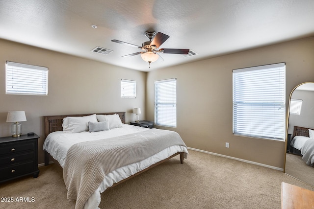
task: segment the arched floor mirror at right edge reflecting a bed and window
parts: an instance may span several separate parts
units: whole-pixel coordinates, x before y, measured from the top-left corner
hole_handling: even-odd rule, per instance
[[[290,94],[285,173],[314,186],[314,83]]]

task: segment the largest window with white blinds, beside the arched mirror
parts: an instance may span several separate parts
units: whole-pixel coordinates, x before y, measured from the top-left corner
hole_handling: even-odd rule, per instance
[[[286,65],[233,70],[233,133],[285,140]]]

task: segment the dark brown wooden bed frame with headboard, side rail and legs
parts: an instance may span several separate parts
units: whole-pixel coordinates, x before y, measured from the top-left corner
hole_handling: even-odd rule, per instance
[[[126,113],[125,113],[125,112],[96,113],[96,114],[97,114],[97,115],[113,115],[113,114],[118,114],[119,117],[120,117],[120,119],[121,119],[121,121],[122,121],[122,123],[126,123],[126,121],[125,121],[125,116],[126,116],[125,114],[126,114]],[[63,118],[64,118],[64,117],[67,117],[67,116],[89,116],[89,115],[92,115],[92,114],[44,116],[44,117],[45,117],[45,139],[47,138],[47,136],[48,136],[50,133],[52,133],[52,132],[54,132],[54,131],[62,131],[62,123],[63,123]],[[120,181],[120,182],[118,182],[118,183],[113,184],[111,187],[116,186],[116,185],[118,185],[118,184],[120,184],[120,183],[122,183],[122,182],[125,182],[125,181],[127,181],[128,179],[131,179],[132,177],[137,176],[137,175],[143,173],[144,171],[149,170],[149,169],[155,167],[156,165],[159,165],[160,163],[163,163],[163,162],[165,162],[165,161],[167,161],[167,160],[169,160],[169,159],[171,159],[171,158],[173,158],[173,157],[175,157],[175,156],[177,156],[177,155],[180,155],[180,163],[183,164],[184,153],[183,153],[183,152],[178,152],[178,153],[173,154],[172,156],[170,156],[170,157],[167,158],[167,159],[164,159],[164,160],[162,160],[162,161],[159,161],[159,162],[157,162],[157,163],[155,163],[155,164],[153,164],[153,165],[151,165],[151,166],[145,168],[144,170],[141,170],[141,171],[139,171],[138,173],[135,173],[135,174],[131,175],[130,177],[128,177],[128,178],[126,178],[126,179],[124,179],[124,180],[122,180],[122,181]],[[52,161],[53,161],[54,163],[56,163],[61,169],[63,169],[63,168],[61,167],[61,165],[60,165],[56,160],[54,160],[54,159],[52,158],[52,156],[51,156],[47,151],[45,151],[45,165],[48,165],[48,164],[49,164],[49,159],[52,159]]]

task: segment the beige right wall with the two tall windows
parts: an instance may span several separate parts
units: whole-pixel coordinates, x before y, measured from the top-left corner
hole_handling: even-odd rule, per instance
[[[192,148],[284,168],[285,142],[232,133],[232,70],[280,62],[286,62],[288,104],[295,86],[314,81],[314,38],[151,71],[146,119],[154,119],[154,81],[177,78],[177,128],[159,128],[177,131]]]

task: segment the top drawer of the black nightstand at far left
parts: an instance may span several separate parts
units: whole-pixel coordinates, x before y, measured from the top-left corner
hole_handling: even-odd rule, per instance
[[[0,155],[12,154],[16,152],[23,152],[28,150],[35,150],[35,141],[28,140],[26,142],[17,142],[3,144],[0,146]]]

